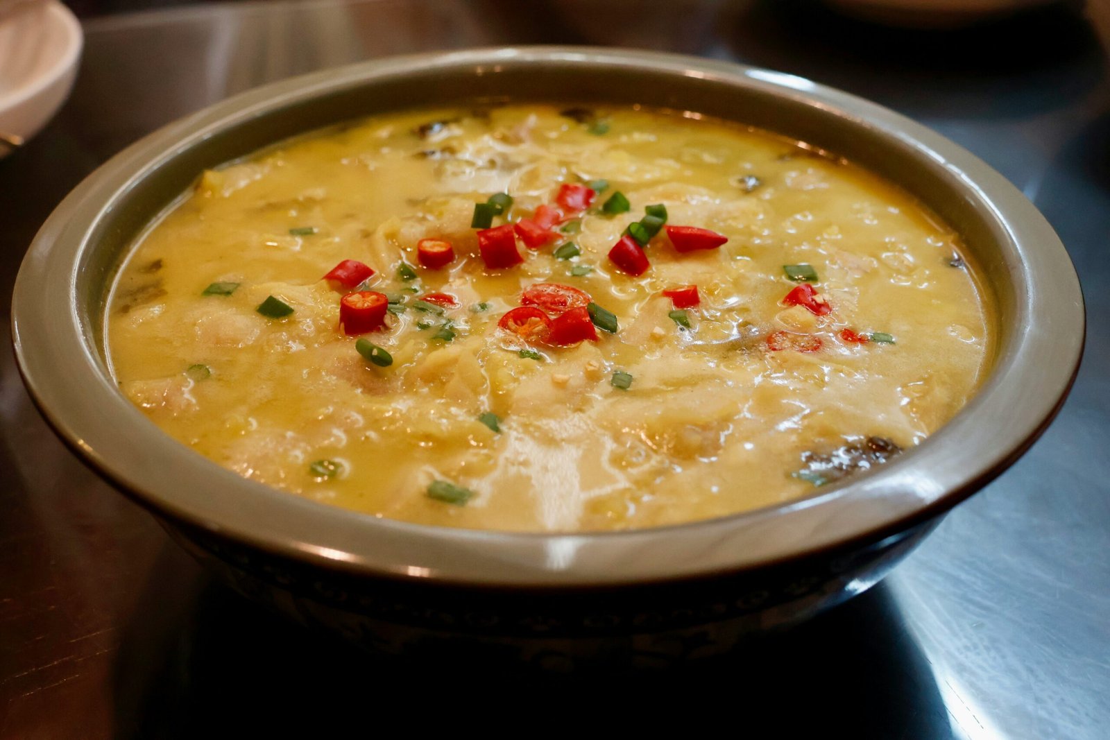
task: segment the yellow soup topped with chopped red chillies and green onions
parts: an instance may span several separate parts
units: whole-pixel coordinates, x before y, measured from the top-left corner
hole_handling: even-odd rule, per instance
[[[123,392],[244,477],[574,531],[886,462],[975,393],[989,323],[958,236],[848,162],[696,115],[514,105],[203,173],[138,240],[108,339]]]

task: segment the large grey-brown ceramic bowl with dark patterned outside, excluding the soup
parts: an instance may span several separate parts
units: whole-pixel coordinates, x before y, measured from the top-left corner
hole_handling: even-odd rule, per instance
[[[963,235],[997,305],[997,357],[981,392],[916,449],[808,498],[586,535],[437,528],[316,504],[220,468],[120,393],[105,362],[107,291],[135,234],[202,169],[355,116],[501,100],[697,111],[804,140],[900,183]],[[1032,444],[1063,402],[1083,344],[1082,297],[1060,241],[959,146],[788,74],[569,48],[357,64],[173,123],[62,202],[23,262],[12,313],[20,368],[62,439],[239,590],[376,648],[496,643],[500,655],[563,666],[712,651],[866,589]]]

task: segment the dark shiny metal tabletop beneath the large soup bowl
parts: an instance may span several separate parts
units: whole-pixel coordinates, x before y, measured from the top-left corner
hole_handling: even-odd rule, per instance
[[[212,585],[62,448],[4,352],[0,737],[209,737],[234,717],[250,737],[306,723],[327,737],[374,731],[371,717],[462,727],[513,707],[528,710],[522,729],[677,714],[688,731],[755,737],[1110,738],[1110,85],[1096,28],[1064,6],[945,34],[882,30],[801,0],[266,2],[88,21],[72,99],[0,161],[6,294],[67,191],[212,101],[400,52],[599,43],[776,68],[936,128],[1046,213],[1091,325],[1056,425],[884,585],[728,659],[574,679],[352,655]]]

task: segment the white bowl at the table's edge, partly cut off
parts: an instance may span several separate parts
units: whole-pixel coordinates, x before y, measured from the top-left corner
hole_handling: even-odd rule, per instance
[[[81,24],[58,0],[0,0],[0,156],[61,108],[81,45]]]

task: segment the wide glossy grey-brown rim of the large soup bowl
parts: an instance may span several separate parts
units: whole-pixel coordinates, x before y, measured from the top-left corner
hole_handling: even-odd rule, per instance
[[[162,433],[115,386],[73,303],[93,229],[122,194],[213,132],[326,93],[420,71],[596,65],[712,79],[787,97],[877,132],[936,166],[1009,240],[1022,291],[1019,332],[982,388],[926,443],[814,495],[741,514],[647,529],[545,534],[383,519],[240,477]],[[49,296],[65,291],[68,311]],[[1048,427],[1082,356],[1078,276],[1025,195],[957,144],[894,111],[809,80],[650,51],[513,47],[393,57],[270,83],[174,121],[101,165],[56,209],[23,260],[12,298],[19,371],[48,423],[88,465],[161,518],[333,570],[493,588],[592,588],[714,577],[878,540],[936,517],[997,477]],[[75,349],[80,347],[80,352]],[[1052,358],[1047,362],[1046,358]],[[973,454],[969,440],[993,447]],[[221,495],[209,495],[208,490]]]

